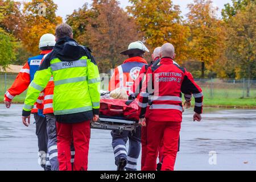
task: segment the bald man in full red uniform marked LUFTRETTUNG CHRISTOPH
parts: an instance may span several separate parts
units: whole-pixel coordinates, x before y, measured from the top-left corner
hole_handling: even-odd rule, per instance
[[[164,44],[160,49],[160,64],[148,69],[139,97],[140,123],[145,121],[147,104],[150,112],[147,126],[147,156],[143,171],[156,170],[159,143],[163,139],[162,171],[173,171],[182,121],[181,92],[195,97],[194,121],[201,121],[203,93],[185,68],[173,64],[174,46]]]

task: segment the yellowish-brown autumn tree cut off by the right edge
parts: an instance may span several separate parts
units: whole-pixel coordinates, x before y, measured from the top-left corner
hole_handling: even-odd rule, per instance
[[[256,5],[248,3],[245,9],[228,19],[226,56],[237,65],[238,78],[256,78]],[[250,96],[250,82],[247,97]]]

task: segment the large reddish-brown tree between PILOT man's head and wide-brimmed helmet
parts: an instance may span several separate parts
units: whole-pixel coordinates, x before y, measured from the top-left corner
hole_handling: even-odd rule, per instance
[[[101,72],[122,64],[126,57],[120,52],[138,40],[133,18],[115,0],[95,0],[92,9],[84,5],[67,22],[79,43],[92,49]]]

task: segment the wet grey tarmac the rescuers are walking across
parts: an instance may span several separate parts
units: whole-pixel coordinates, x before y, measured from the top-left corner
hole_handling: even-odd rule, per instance
[[[0,170],[42,170],[35,125],[23,126],[21,110],[0,105]],[[256,170],[256,110],[205,109],[200,123],[192,114],[184,113],[176,170]],[[92,130],[89,170],[116,169],[111,142],[110,131]],[[210,151],[217,153],[216,165],[209,164]]]

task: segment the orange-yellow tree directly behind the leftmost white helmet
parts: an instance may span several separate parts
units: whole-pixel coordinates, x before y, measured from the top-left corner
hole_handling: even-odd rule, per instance
[[[23,44],[32,54],[38,54],[39,39],[43,34],[55,34],[55,27],[62,22],[56,16],[57,5],[52,0],[32,0],[24,3]]]

